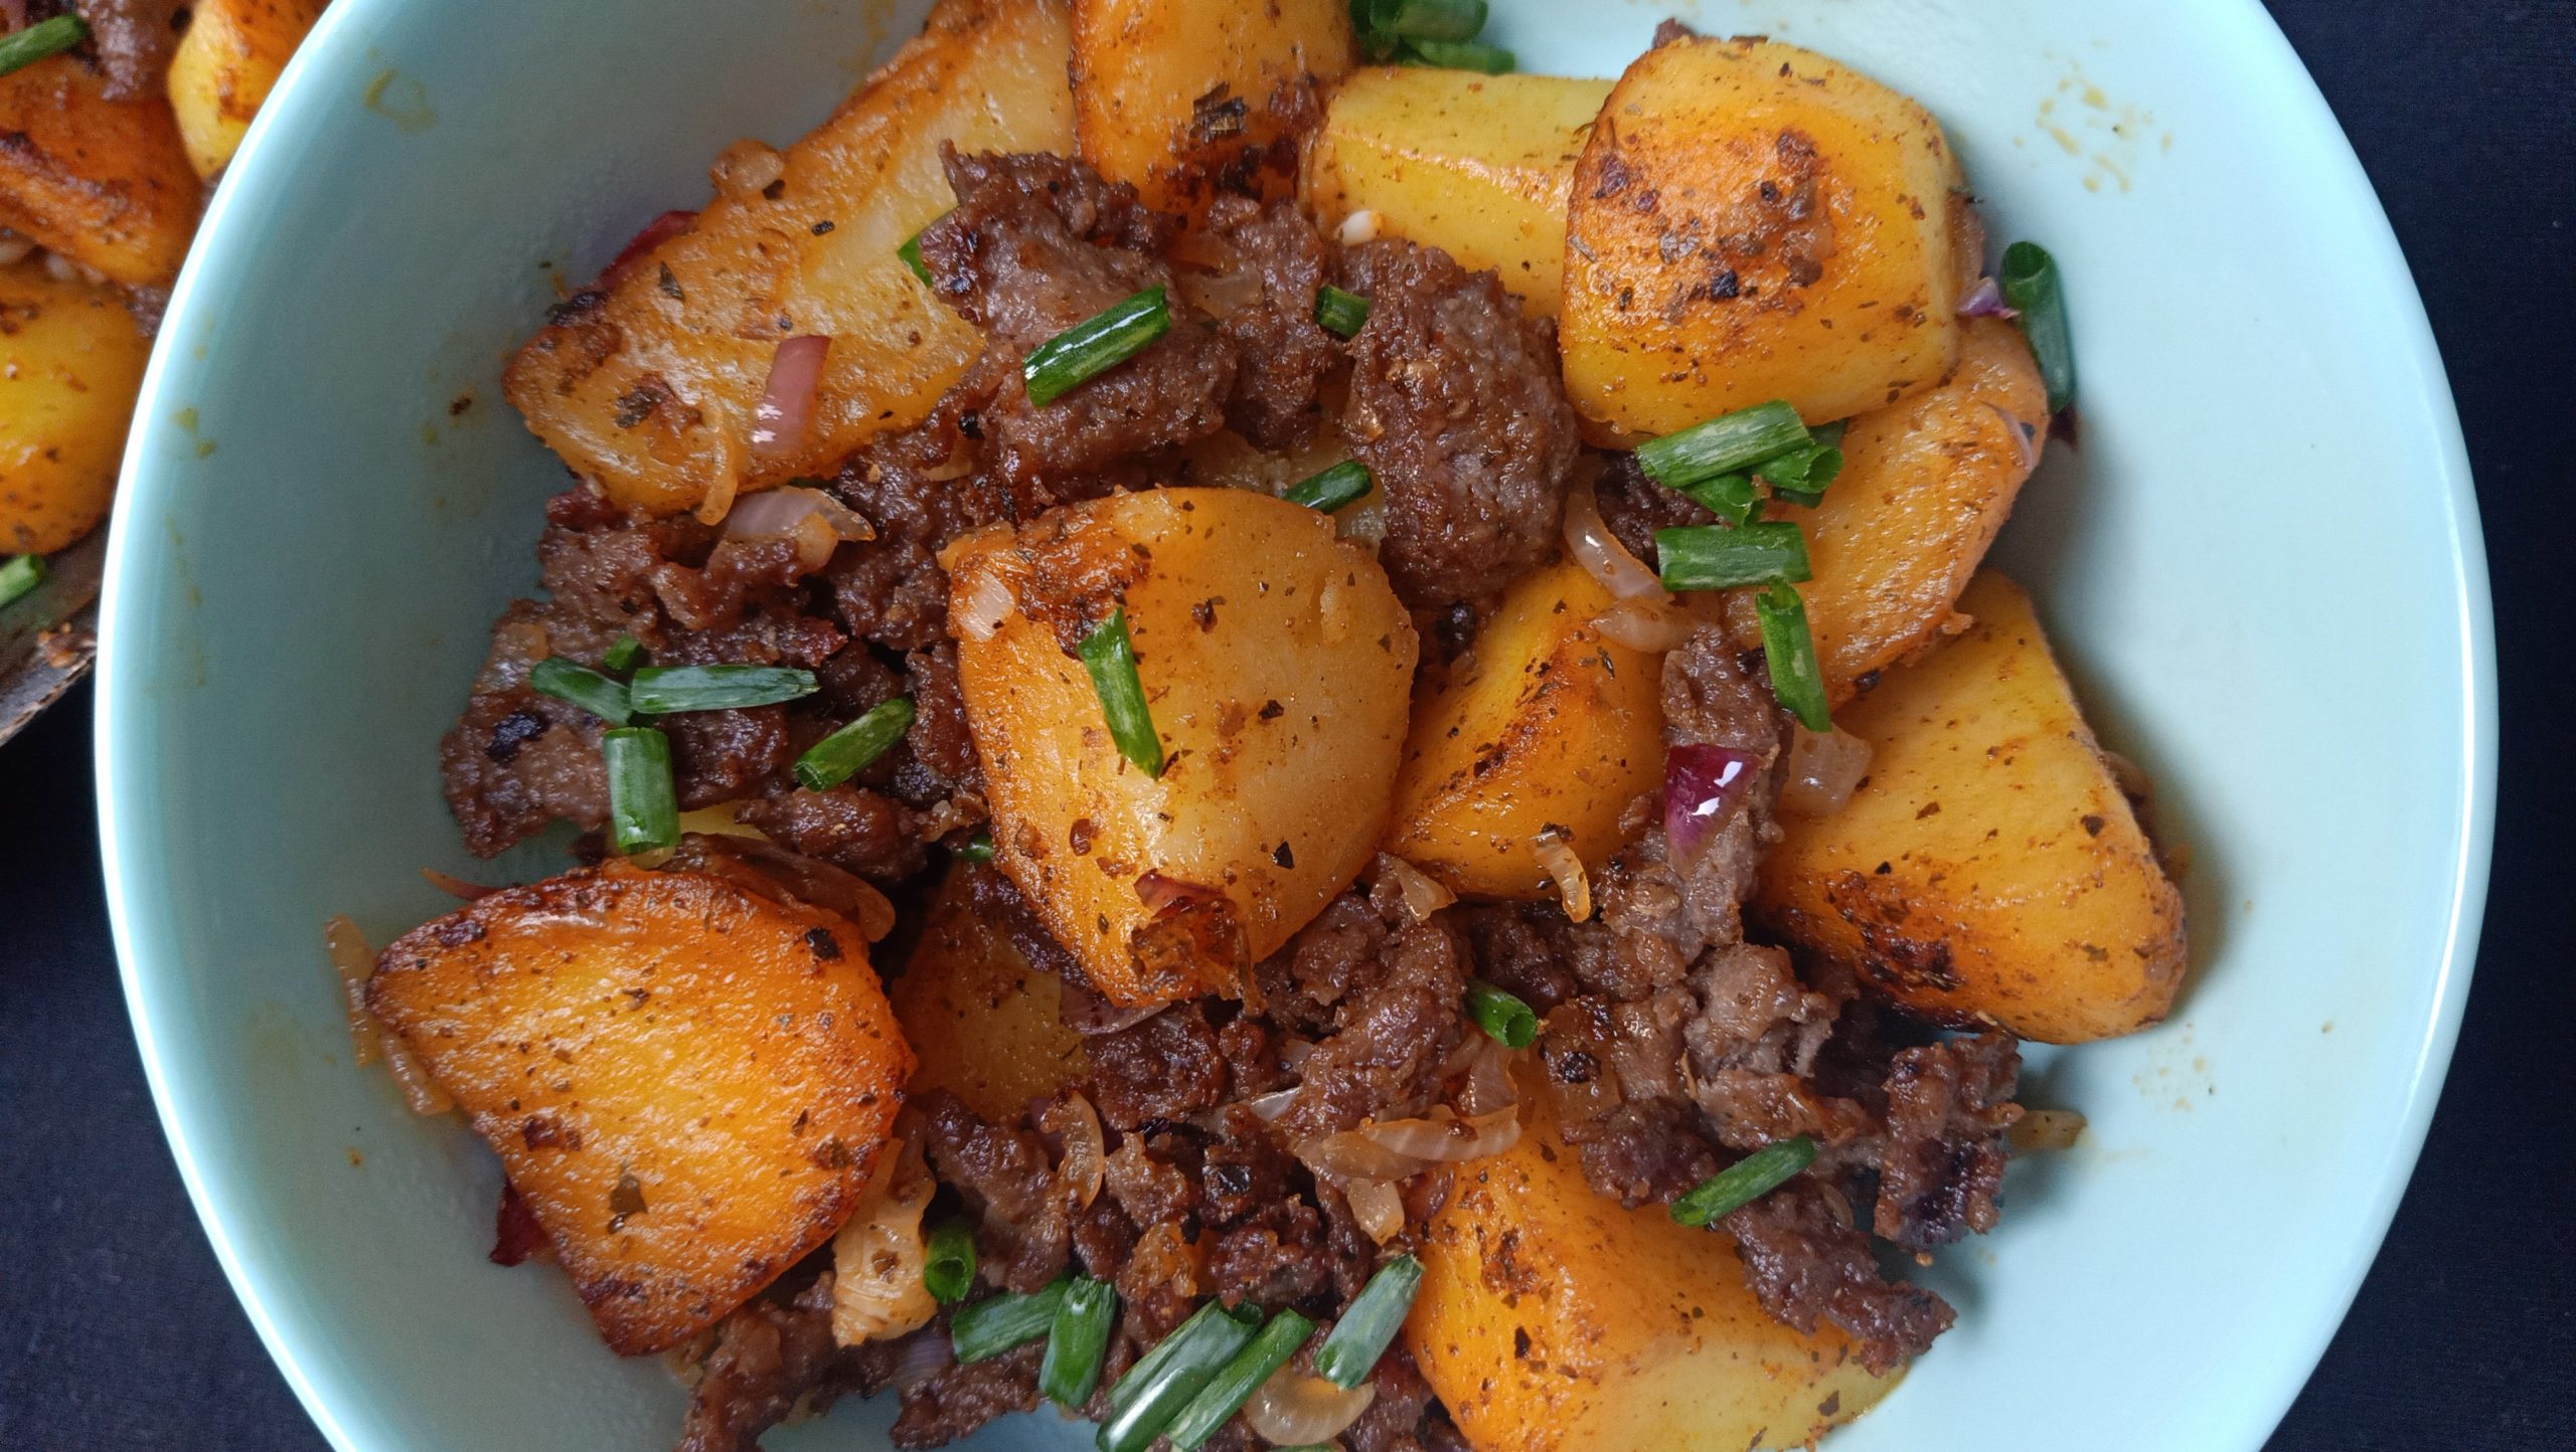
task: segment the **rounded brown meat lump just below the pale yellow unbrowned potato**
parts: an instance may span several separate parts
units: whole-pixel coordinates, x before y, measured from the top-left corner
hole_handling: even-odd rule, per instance
[[[1396,595],[1435,610],[1502,590],[1556,548],[1582,448],[1553,324],[1399,239],[1352,247],[1342,286],[1368,299],[1342,435],[1386,492]]]

